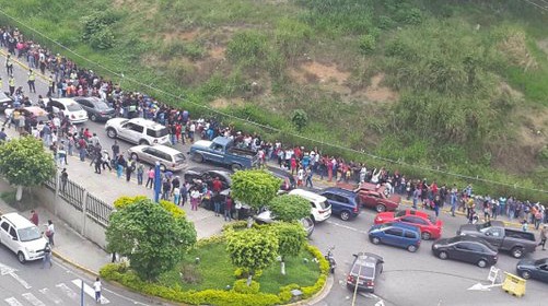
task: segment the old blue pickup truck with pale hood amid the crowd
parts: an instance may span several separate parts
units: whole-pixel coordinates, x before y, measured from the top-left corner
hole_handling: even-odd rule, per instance
[[[236,148],[234,140],[226,137],[215,137],[212,141],[198,140],[190,146],[189,154],[198,163],[213,162],[232,170],[252,168],[257,164],[256,152]]]

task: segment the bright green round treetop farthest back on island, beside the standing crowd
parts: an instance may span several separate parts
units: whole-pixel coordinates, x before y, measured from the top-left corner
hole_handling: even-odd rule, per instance
[[[263,170],[240,170],[232,176],[232,197],[258,210],[270,202],[280,189],[281,180]]]

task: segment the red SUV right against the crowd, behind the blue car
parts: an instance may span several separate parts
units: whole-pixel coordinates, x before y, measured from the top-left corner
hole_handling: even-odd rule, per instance
[[[362,205],[374,209],[376,212],[395,211],[401,204],[401,197],[398,195],[390,195],[383,185],[362,183],[357,186],[347,183],[338,183],[337,187],[357,192],[360,195]]]

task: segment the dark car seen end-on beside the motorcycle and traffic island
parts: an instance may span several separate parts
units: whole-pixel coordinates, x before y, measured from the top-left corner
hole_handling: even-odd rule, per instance
[[[383,272],[384,260],[381,256],[371,252],[354,254],[354,261],[347,275],[347,287],[349,290],[375,291],[375,281]]]

